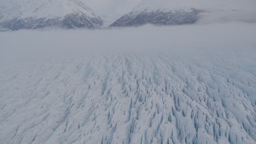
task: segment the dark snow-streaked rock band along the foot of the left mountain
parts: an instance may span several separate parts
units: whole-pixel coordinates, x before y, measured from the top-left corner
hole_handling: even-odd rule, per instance
[[[90,18],[86,14],[67,14],[64,18],[14,18],[3,22],[2,27],[10,30],[40,29],[48,26],[59,26],[63,28],[85,27],[94,29],[102,26],[101,18]]]

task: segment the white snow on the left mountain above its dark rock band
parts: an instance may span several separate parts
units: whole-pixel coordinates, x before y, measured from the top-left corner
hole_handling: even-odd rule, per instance
[[[96,14],[79,0],[0,0],[4,20],[12,18],[63,18],[66,14],[83,13],[91,18]]]

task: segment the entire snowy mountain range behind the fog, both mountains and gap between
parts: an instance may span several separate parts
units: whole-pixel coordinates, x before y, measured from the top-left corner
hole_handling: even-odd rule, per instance
[[[255,7],[255,0],[0,0],[0,30],[256,22]]]

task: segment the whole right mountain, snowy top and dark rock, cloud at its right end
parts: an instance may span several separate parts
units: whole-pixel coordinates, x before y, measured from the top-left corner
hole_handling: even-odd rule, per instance
[[[248,21],[256,22],[255,6],[254,0],[143,0],[134,10],[124,14],[110,26],[141,26],[147,23],[182,25],[193,24],[206,17],[220,22],[225,18],[238,16],[240,19],[246,17]],[[223,18],[223,15],[226,17]]]

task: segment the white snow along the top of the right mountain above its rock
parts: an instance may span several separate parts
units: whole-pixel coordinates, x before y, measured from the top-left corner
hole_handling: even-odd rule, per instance
[[[142,0],[134,9],[144,10],[190,10],[191,8],[209,11],[255,11],[254,0]]]

